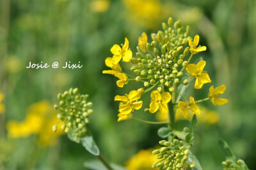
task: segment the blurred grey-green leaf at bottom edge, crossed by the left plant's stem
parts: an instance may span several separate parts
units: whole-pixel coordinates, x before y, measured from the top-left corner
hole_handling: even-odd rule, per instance
[[[125,167],[110,163],[110,166],[114,169],[114,170],[127,170]],[[84,167],[88,168],[88,169],[93,169],[93,170],[108,170],[103,164],[102,162],[100,162],[99,160],[89,160],[84,162]]]

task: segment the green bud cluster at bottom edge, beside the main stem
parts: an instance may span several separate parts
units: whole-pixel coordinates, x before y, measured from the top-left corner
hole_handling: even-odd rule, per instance
[[[157,160],[152,167],[159,167],[160,169],[184,169],[189,156],[189,150],[184,145],[183,141],[173,139],[170,141],[159,141],[159,144],[163,145],[159,150],[154,150],[152,153],[157,155]],[[194,167],[195,162],[192,162],[190,167]]]

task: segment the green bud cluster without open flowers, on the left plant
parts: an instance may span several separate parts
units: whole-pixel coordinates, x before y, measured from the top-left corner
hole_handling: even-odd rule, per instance
[[[58,94],[59,105],[54,105],[54,109],[60,111],[57,118],[63,122],[61,129],[66,133],[72,132],[76,141],[86,134],[86,124],[89,123],[88,116],[92,114],[93,110],[88,109],[92,107],[92,102],[86,102],[89,95],[80,95],[77,93],[78,89],[70,88],[63,94]],[[60,122],[58,121],[58,123]],[[57,130],[57,125],[53,125],[52,130]]]

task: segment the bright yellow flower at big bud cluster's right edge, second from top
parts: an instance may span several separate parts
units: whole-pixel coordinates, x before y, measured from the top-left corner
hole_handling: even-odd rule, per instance
[[[209,75],[207,73],[203,73],[205,63],[205,61],[199,61],[196,65],[189,64],[186,66],[187,72],[191,74],[190,79],[196,77],[195,89],[200,89],[205,83],[211,82]]]

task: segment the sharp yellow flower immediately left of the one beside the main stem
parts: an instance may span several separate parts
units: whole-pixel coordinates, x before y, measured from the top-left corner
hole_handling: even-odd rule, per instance
[[[120,101],[119,112],[122,115],[131,114],[134,109],[138,110],[141,108],[143,102],[139,101],[141,93],[138,90],[132,90],[129,95],[115,97],[115,101]]]

